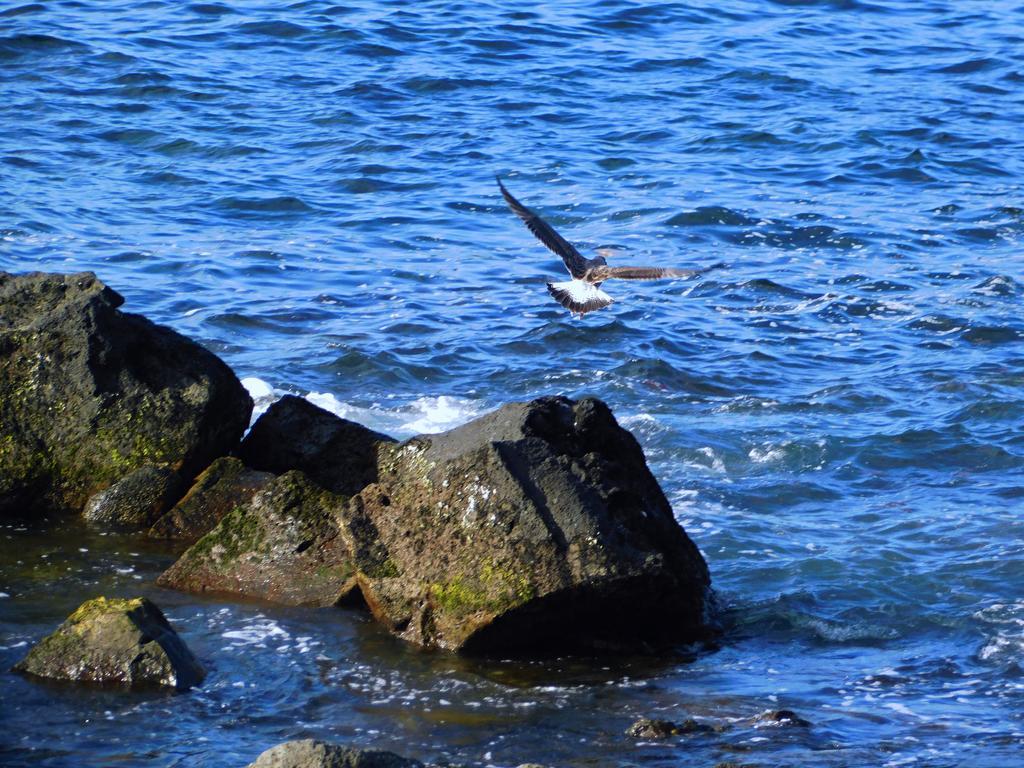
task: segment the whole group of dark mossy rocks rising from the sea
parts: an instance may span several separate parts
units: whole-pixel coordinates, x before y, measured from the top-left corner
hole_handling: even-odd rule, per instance
[[[246,433],[234,374],[122,303],[91,273],[0,273],[3,517],[178,542],[160,586],[365,607],[443,651],[648,653],[714,636],[707,564],[600,400],[508,403],[398,442],[286,396]],[[17,670],[178,689],[205,674],[159,608],[101,596]],[[376,760],[265,764],[399,764]]]

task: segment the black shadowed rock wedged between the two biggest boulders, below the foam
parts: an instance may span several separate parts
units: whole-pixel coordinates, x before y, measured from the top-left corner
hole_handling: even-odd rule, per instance
[[[351,496],[377,479],[378,445],[393,441],[285,395],[256,421],[238,453],[254,469],[274,474],[300,469],[328,490]]]

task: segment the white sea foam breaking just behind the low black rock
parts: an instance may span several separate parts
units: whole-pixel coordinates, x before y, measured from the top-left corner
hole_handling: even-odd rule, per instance
[[[253,422],[271,403],[285,394],[290,394],[256,377],[243,379],[242,384],[249,390],[255,403]],[[417,397],[411,402],[397,406],[375,403],[369,408],[345,402],[332,392],[308,392],[303,396],[335,416],[398,438],[443,432],[471,421],[486,410],[486,406],[479,400],[446,394]]]

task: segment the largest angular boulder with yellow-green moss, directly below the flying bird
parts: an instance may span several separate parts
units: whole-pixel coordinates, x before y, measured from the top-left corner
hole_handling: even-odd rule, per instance
[[[543,654],[708,634],[707,564],[600,400],[511,403],[387,446],[379,482],[354,501],[400,574],[360,589],[407,639]]]

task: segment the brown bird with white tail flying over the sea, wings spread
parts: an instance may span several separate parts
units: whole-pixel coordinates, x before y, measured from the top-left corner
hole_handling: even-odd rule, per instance
[[[500,176],[495,176],[495,179],[498,181],[498,187],[502,190],[502,197],[505,198],[505,202],[508,203],[512,212],[522,219],[538,240],[556,256],[560,256],[565,263],[565,268],[568,269],[572,280],[562,283],[548,283],[548,293],[554,297],[555,301],[579,317],[583,317],[588,312],[603,309],[614,301],[601,290],[601,284],[606,280],[692,278],[707,271],[707,269],[676,269],[665,266],[608,266],[608,261],[605,258],[608,253],[606,249],[599,249],[595,258],[588,259],[572,244],[556,232],[551,224],[512,197],[512,194],[505,188]]]

